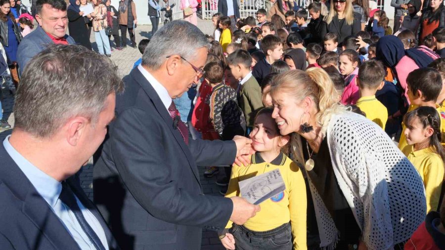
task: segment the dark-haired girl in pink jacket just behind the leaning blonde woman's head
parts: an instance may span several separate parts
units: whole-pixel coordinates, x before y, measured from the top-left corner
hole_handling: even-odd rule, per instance
[[[358,53],[353,49],[343,50],[338,57],[338,68],[340,74],[345,78],[346,85],[341,99],[343,105],[355,105],[360,97],[356,83],[359,60]]]

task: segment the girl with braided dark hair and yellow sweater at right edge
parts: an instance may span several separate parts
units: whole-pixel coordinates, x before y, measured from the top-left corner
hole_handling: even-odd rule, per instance
[[[441,119],[435,108],[419,107],[403,118],[404,135],[412,145],[408,160],[417,169],[425,186],[427,213],[436,211],[444,180],[445,150],[441,145]]]

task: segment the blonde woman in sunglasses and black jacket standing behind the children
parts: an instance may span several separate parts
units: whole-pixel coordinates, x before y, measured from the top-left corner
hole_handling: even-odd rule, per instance
[[[337,34],[340,47],[347,36],[356,35],[361,30],[361,15],[354,12],[352,0],[331,0],[329,14],[323,22],[321,37],[329,32]]]

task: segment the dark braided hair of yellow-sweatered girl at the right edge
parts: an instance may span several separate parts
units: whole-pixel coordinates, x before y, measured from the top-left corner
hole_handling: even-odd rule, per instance
[[[433,107],[418,107],[417,109],[406,113],[403,117],[403,124],[406,125],[407,128],[412,129],[412,122],[416,117],[420,120],[423,129],[428,126],[433,128],[434,132],[430,137],[429,146],[433,146],[436,153],[441,157],[442,162],[445,162],[445,149],[441,144],[441,118],[439,113]]]

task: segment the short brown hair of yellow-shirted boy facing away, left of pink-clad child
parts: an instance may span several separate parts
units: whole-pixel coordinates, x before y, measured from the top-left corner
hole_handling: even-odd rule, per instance
[[[358,86],[360,88],[377,89],[385,80],[386,70],[377,60],[369,60],[358,68]]]

